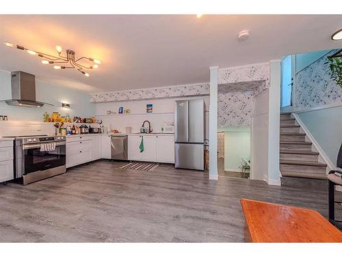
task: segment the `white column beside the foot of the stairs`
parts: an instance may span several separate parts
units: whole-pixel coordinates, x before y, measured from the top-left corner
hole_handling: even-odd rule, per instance
[[[280,186],[280,60],[269,63],[268,184]]]

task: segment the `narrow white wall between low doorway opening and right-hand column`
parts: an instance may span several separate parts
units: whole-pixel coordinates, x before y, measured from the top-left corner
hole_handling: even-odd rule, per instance
[[[252,117],[252,160],[251,178],[268,180],[268,108],[269,89],[254,100]]]

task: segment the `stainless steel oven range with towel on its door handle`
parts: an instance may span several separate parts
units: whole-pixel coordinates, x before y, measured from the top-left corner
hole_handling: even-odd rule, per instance
[[[29,184],[66,172],[64,136],[16,138],[14,178]]]

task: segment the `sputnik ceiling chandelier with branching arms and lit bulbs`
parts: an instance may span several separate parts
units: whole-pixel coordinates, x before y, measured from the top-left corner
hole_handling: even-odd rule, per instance
[[[86,73],[86,71],[83,71],[83,69],[98,69],[98,64],[101,64],[99,60],[96,60],[94,58],[90,57],[81,57],[77,60],[75,60],[75,51],[67,49],[66,50],[66,56],[62,56],[62,47],[59,45],[56,46],[56,51],[58,53],[58,56],[51,56],[47,53],[42,53],[38,51],[33,51],[30,49],[27,49],[25,47],[22,47],[21,45],[14,45],[10,42],[5,42],[4,43],[8,47],[16,47],[16,49],[20,49],[23,51],[27,51],[27,53],[33,55],[33,56],[38,56],[41,58],[44,58],[42,60],[42,64],[55,64],[53,66],[54,69],[59,70],[59,69],[77,69],[77,71],[81,72],[83,75],[86,77],[89,77],[89,73]],[[92,65],[90,66],[84,66],[80,64],[79,61],[81,60],[89,60],[92,62]]]

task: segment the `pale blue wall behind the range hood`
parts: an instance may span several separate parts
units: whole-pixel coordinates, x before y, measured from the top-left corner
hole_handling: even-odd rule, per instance
[[[0,100],[12,99],[10,73],[0,71]],[[79,90],[55,86],[36,79],[36,100],[51,103],[54,106],[42,108],[27,108],[21,106],[8,106],[0,102],[0,115],[7,115],[13,121],[43,121],[44,112],[66,113],[73,116],[92,117],[95,115],[95,105],[89,102],[90,95]],[[70,109],[62,108],[62,102],[70,103]]]

